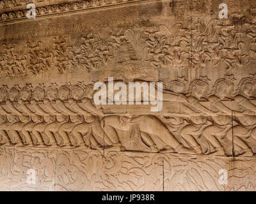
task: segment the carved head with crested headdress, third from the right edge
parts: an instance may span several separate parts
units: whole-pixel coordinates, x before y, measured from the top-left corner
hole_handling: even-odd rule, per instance
[[[198,100],[207,97],[207,91],[209,89],[207,77],[200,77],[200,80],[194,80],[189,85],[188,95],[194,96]]]

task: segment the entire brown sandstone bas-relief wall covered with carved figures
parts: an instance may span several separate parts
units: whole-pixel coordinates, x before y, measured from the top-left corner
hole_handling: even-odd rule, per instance
[[[41,190],[161,190],[160,157],[166,190],[255,186],[255,1],[221,2],[227,19],[215,0],[34,3],[35,19],[24,18],[23,1],[1,3],[6,190],[31,188],[20,172],[38,159]],[[95,105],[93,85],[109,77],[162,82],[163,109]],[[230,170],[228,186],[219,167]]]

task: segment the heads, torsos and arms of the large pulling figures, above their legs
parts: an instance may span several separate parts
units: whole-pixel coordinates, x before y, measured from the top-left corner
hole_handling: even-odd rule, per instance
[[[121,80],[114,80],[113,84],[122,82]],[[144,80],[134,80],[138,84],[148,84],[150,82]],[[236,101],[239,106],[243,106],[243,115],[254,115],[255,110],[253,103],[250,102],[256,99],[256,75],[242,78],[238,84],[235,84],[236,79],[234,75],[225,75],[225,78],[216,80],[212,89],[209,87],[209,79],[207,77],[200,77],[193,80],[189,86],[186,86],[184,78],[178,78],[170,82],[168,85],[164,84],[163,101],[177,101],[182,106],[184,113],[188,115],[215,115],[199,102],[208,101],[212,105],[220,106],[221,101]],[[108,82],[105,83],[108,87]],[[129,83],[125,82],[128,86]],[[237,89],[235,90],[235,87]],[[93,84],[86,85],[85,82],[78,82],[72,85],[67,82],[62,85],[52,83],[47,87],[44,84],[39,84],[33,87],[31,84],[26,84],[24,87],[15,85],[8,88],[7,85],[0,87],[0,113],[1,114],[56,114],[65,113],[67,115],[86,114],[88,108],[84,108],[84,104],[89,104],[89,112],[99,113],[99,108],[93,107],[93,96],[99,89]],[[156,92],[159,88],[156,84]],[[147,89],[145,89],[147,90]],[[141,96],[144,94],[151,94],[141,91]],[[108,92],[108,90],[106,90]],[[104,96],[108,99],[108,96]],[[152,96],[155,98],[155,96]],[[141,97],[142,98],[142,97]],[[108,100],[107,100],[108,101]],[[250,104],[249,104],[250,103]],[[185,107],[186,106],[186,107]],[[191,108],[193,106],[193,108]],[[70,108],[69,108],[70,107]],[[103,108],[103,107],[101,107]],[[243,109],[242,108],[242,109]],[[86,111],[85,111],[86,110]],[[221,115],[230,115],[230,109],[224,106],[218,107],[218,113]],[[235,111],[235,110],[234,110]],[[103,115],[102,115],[103,116]]]

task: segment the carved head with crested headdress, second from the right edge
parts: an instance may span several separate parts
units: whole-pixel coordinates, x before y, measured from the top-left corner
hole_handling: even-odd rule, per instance
[[[225,75],[225,78],[217,80],[210,95],[216,95],[220,99],[232,98],[234,91],[234,75]]]

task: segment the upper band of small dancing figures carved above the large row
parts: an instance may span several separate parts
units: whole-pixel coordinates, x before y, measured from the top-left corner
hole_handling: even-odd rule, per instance
[[[224,66],[234,69],[256,60],[256,17],[230,15],[205,24],[185,27],[177,23],[109,31],[105,38],[95,31],[83,33],[72,42],[70,36],[52,36],[49,41],[1,45],[0,74],[39,75],[47,71],[170,68]],[[236,22],[236,20],[238,22]],[[200,31],[200,27],[205,27]],[[196,31],[191,39],[191,30]],[[192,45],[191,45],[192,43]],[[141,76],[142,77],[142,76]]]

